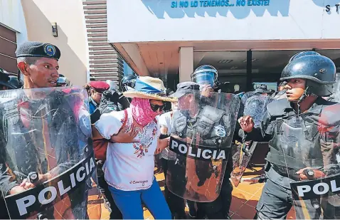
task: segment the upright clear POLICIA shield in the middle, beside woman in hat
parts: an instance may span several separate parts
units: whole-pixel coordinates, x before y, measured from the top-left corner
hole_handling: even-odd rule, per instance
[[[216,102],[218,100],[218,102]],[[240,100],[237,95],[186,90],[174,111],[166,186],[191,201],[217,199],[235,131]],[[228,179],[226,180],[228,181]]]

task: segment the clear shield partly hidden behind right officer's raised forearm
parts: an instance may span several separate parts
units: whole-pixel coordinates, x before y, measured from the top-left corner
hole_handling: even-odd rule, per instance
[[[268,95],[261,95],[254,92],[245,93],[243,97],[245,97],[241,100],[244,102],[243,115],[253,117],[255,127],[260,127],[266,106],[272,101],[272,98]],[[233,154],[233,172],[231,173],[231,179],[235,187],[238,187],[257,144],[257,142],[253,141],[242,143],[238,145],[238,150]]]

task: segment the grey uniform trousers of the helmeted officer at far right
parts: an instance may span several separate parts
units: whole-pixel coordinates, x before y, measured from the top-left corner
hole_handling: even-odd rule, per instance
[[[293,180],[278,174],[270,164],[266,165],[266,183],[262,189],[260,200],[257,203],[257,219],[286,219],[293,206],[290,182]],[[296,219],[319,219],[321,209],[315,209],[309,201],[294,201],[295,209],[306,209],[305,214]],[[304,208],[302,208],[304,207]]]

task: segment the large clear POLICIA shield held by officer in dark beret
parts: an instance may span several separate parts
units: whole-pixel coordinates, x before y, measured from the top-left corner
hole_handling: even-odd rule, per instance
[[[0,183],[11,219],[100,219],[87,93],[6,90]],[[90,215],[90,216],[89,216]]]

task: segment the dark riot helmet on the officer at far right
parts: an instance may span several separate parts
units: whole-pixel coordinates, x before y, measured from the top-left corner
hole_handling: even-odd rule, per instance
[[[336,67],[333,61],[314,51],[297,53],[282,70],[281,81],[294,78],[306,80],[306,95],[327,96],[332,93]]]

